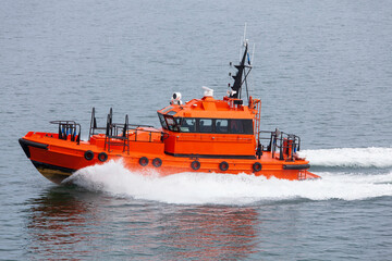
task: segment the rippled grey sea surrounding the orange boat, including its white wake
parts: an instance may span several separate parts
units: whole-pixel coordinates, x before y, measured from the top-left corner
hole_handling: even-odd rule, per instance
[[[262,129],[299,135],[316,182],[121,162],[57,186],[17,139],[89,113],[158,126],[171,94],[225,95],[244,24]],[[391,260],[391,1],[1,1],[0,259]]]

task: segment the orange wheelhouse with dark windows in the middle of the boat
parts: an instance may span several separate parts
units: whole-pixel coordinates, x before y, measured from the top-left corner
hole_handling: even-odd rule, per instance
[[[158,111],[162,130],[168,134],[169,154],[205,158],[255,158],[257,109],[212,97],[171,104]]]

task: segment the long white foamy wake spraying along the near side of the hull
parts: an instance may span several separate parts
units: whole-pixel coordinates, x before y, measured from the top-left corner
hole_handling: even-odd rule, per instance
[[[181,173],[159,177],[130,172],[121,162],[85,167],[70,177],[84,188],[115,197],[179,204],[250,204],[264,200],[360,200],[392,196],[392,172],[375,175],[317,173],[318,181],[291,182],[254,175]],[[69,179],[69,181],[70,181]]]

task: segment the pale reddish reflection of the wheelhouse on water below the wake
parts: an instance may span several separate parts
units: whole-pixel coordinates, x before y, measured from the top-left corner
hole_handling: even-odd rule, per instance
[[[254,251],[258,221],[252,208],[189,208],[162,219],[162,244],[172,248],[167,258],[244,258]]]

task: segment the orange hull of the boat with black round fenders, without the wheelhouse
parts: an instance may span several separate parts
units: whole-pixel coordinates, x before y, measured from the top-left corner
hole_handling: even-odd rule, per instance
[[[154,170],[162,176],[183,172],[201,172],[246,173],[290,181],[319,178],[318,175],[307,171],[309,162],[303,159],[297,159],[295,162],[279,160],[278,156],[272,157],[269,151],[264,152],[260,159],[256,157],[254,159],[221,157],[217,159],[203,158],[197,154],[175,157],[164,153],[163,144],[158,138],[155,140],[154,137],[148,142],[140,140],[140,138],[137,141],[131,141],[130,151],[124,151],[122,146],[108,150],[105,147],[103,136],[99,135],[91,138],[90,141],[76,144],[59,139],[58,134],[29,132],[20,139],[20,144],[36,169],[45,177],[57,184],[83,167],[103,164],[109,160],[122,160],[131,171],[148,173]],[[88,159],[86,159],[86,151],[90,153],[87,157]],[[195,161],[198,163],[194,163]],[[260,170],[256,167],[255,171],[255,165],[260,165]]]

